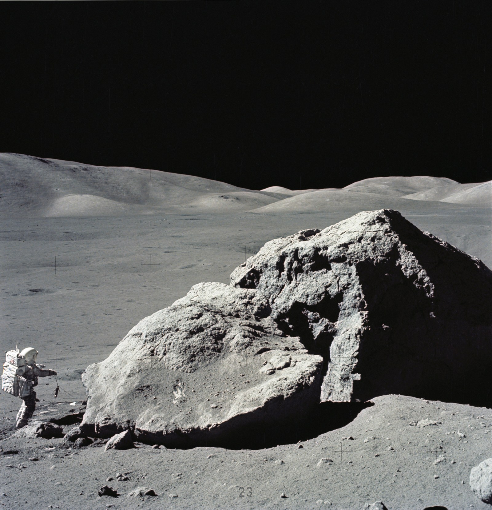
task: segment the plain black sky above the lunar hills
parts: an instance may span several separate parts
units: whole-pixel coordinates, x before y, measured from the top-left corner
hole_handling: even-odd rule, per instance
[[[2,2],[0,151],[342,187],[490,179],[492,3]]]

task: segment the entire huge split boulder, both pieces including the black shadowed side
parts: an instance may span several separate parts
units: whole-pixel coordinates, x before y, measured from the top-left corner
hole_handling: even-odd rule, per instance
[[[320,401],[486,405],[491,295],[483,263],[397,211],[274,239],[89,366],[81,427],[194,447],[289,427]]]

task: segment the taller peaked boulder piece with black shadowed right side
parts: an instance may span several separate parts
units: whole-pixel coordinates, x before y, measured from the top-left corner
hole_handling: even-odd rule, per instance
[[[488,405],[492,272],[397,211],[274,239],[231,274],[327,365],[321,400]]]

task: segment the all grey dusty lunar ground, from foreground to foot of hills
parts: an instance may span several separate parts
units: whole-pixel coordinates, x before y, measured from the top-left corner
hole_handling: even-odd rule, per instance
[[[16,342],[20,348],[33,345],[40,363],[56,366],[62,388],[55,399],[55,380],[41,379],[35,418],[76,410],[86,398],[82,371],[105,359],[140,319],[196,283],[228,283],[232,269],[274,237],[324,228],[371,209],[366,206],[372,202],[360,196],[304,213],[184,208],[43,218],[9,215],[4,209],[2,351],[15,348]],[[388,203],[395,199],[401,213],[422,230],[492,266],[486,204],[392,196]],[[378,205],[384,200],[379,196]],[[468,478],[473,466],[492,456],[488,409],[390,395],[375,399],[342,428],[329,430],[320,423],[315,436],[294,431],[291,443],[266,449],[152,450],[138,444],[134,450],[105,452],[101,445],[67,450],[60,448],[61,440],[9,439],[19,405],[18,398],[1,394],[0,503],[5,508],[357,509],[376,500],[390,510],[434,504],[487,507],[471,492]],[[415,425],[425,418],[441,423]],[[240,439],[247,446],[248,438]],[[33,457],[39,460],[30,461]],[[318,466],[321,458],[332,462]],[[129,479],[116,480],[117,472]],[[115,479],[107,482],[108,477]],[[106,483],[118,489],[118,498],[97,496]],[[158,496],[127,497],[138,486]]]

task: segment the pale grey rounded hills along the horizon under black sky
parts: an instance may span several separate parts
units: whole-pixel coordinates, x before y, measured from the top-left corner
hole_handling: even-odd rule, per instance
[[[373,177],[343,189],[248,190],[193,175],[133,167],[103,167],[0,153],[0,216],[304,213],[408,208],[429,202],[487,207],[492,182],[460,184],[446,177]],[[449,207],[446,205],[449,203]]]

